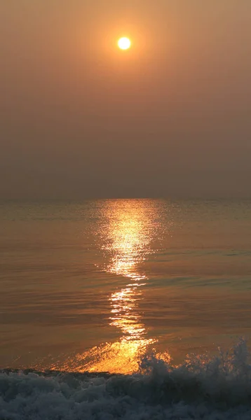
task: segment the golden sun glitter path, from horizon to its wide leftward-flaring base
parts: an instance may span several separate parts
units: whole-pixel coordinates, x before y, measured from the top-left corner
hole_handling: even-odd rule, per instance
[[[147,348],[158,341],[147,337],[139,306],[148,280],[141,267],[147,255],[153,253],[151,241],[156,236],[156,209],[149,201],[108,200],[102,207],[106,223],[100,228],[100,248],[109,257],[104,271],[125,279],[125,286],[109,296],[109,325],[120,331],[119,340],[69,356],[63,363],[57,361],[50,369],[133,373],[139,369]],[[168,353],[159,357],[170,360]]]

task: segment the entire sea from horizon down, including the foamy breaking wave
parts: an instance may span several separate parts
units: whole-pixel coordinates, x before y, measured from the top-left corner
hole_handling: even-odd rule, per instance
[[[251,419],[251,200],[0,202],[0,420]]]

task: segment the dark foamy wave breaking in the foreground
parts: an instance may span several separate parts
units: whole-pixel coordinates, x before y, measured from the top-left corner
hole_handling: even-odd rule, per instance
[[[132,375],[1,370],[0,419],[250,420],[247,344],[179,366],[146,356]]]

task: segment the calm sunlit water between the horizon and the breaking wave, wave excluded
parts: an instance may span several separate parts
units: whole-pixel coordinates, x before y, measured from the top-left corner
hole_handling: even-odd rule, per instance
[[[132,373],[248,338],[250,206],[2,203],[1,367]]]

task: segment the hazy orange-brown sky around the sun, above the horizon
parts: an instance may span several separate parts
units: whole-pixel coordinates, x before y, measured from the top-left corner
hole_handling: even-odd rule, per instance
[[[0,197],[251,196],[251,0],[0,0],[0,63]]]

